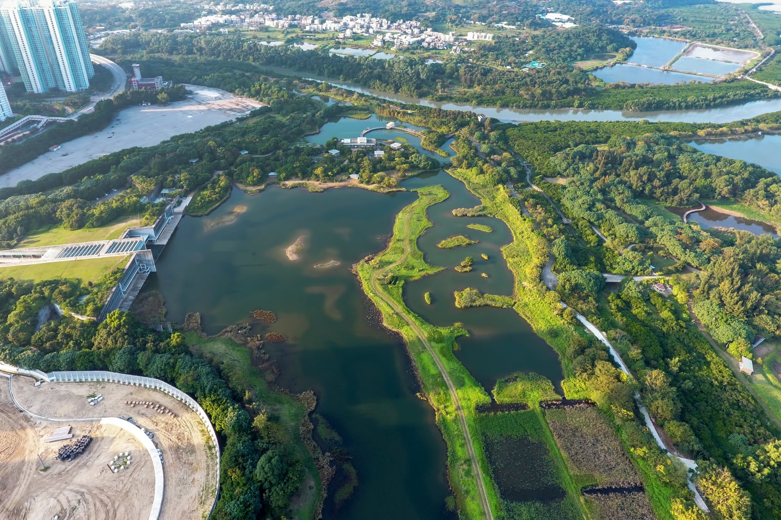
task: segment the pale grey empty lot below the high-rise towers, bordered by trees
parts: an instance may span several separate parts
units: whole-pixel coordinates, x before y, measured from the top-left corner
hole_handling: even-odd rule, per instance
[[[35,180],[47,173],[62,172],[133,146],[152,146],[169,137],[223,123],[262,106],[255,99],[241,98],[216,88],[185,85],[193,98],[168,106],[134,106],[119,112],[105,129],[62,143],[58,151],[44,155],[0,176],[0,187],[16,186],[20,180]],[[60,143],[52,143],[60,144]]]

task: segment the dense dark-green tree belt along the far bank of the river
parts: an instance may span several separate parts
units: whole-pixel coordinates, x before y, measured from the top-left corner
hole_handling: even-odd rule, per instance
[[[119,62],[167,59],[191,63],[195,69],[205,60],[221,60],[219,66],[228,68],[227,62],[241,59],[253,64],[251,69],[237,64],[248,72],[257,73],[262,66],[284,67],[412,97],[515,108],[682,110],[779,95],[741,80],[715,85],[605,85],[572,67],[572,62],[594,53],[626,55],[634,45],[617,30],[594,25],[565,31],[543,27],[523,39],[499,36],[490,44],[477,44],[469,61],[447,59],[444,63],[426,63],[416,55],[387,60],[330,55],[328,48],[304,51],[292,45],[259,45],[238,34],[213,33],[112,34],[103,41],[100,52]],[[546,62],[547,66],[522,70],[525,59]]]

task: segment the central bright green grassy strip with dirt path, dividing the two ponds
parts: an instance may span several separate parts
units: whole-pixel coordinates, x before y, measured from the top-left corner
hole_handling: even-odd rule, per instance
[[[490,397],[453,354],[455,338],[466,331],[425,322],[407,308],[401,294],[406,280],[444,269],[426,264],[417,238],[432,225],[426,218],[426,208],[448,198],[448,191],[440,186],[417,191],[418,201],[397,215],[388,248],[356,266],[358,278],[382,312],[385,326],[405,338],[423,392],[448,445],[448,477],[462,518],[493,518],[486,508],[499,511],[499,497],[494,483],[487,478],[490,468],[479,442],[475,411]]]

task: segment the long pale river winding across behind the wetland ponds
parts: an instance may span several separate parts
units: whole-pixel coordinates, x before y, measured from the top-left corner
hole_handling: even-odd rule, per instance
[[[373,95],[388,101],[407,103],[410,105],[423,105],[445,110],[458,110],[459,112],[477,112],[498,119],[505,123],[526,123],[532,121],[621,121],[647,119],[648,121],[680,121],[683,123],[729,123],[740,119],[760,116],[768,112],[781,111],[781,98],[764,99],[761,101],[747,102],[742,105],[723,106],[716,109],[700,110],[668,110],[656,112],[629,112],[621,110],[586,110],[586,109],[497,109],[483,105],[469,105],[466,103],[433,102],[424,98],[413,98],[401,94],[391,94],[386,91],[378,91],[373,88],[362,87],[348,80],[322,77],[312,73],[301,72],[285,67],[264,66],[276,73],[290,76],[304,77],[307,79],[325,81],[335,87]]]

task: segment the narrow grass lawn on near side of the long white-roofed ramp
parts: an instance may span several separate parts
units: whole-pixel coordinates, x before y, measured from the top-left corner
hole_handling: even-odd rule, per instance
[[[14,265],[0,268],[0,279],[16,280],[58,280],[59,278],[78,278],[82,282],[95,282],[113,267],[122,269],[130,256],[108,258],[90,258],[71,260],[70,262],[50,262],[48,264]]]

